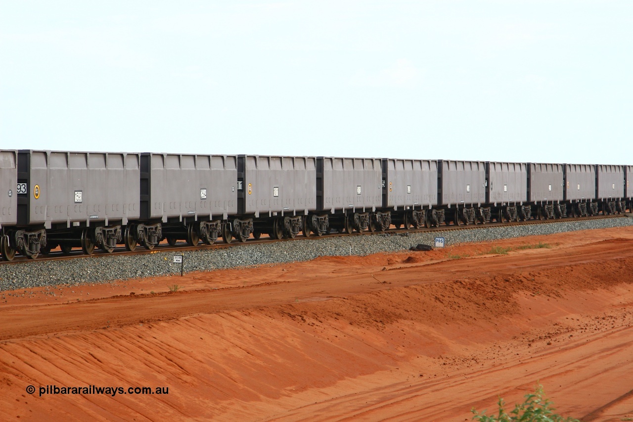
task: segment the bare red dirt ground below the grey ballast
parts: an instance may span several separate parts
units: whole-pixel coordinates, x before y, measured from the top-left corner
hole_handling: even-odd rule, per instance
[[[565,416],[633,420],[632,311],[633,228],[3,291],[0,406],[6,420],[465,421],[540,382]]]

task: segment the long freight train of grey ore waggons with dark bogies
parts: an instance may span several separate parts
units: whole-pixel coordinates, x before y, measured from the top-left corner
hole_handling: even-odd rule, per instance
[[[0,254],[630,210],[633,166],[0,150]]]

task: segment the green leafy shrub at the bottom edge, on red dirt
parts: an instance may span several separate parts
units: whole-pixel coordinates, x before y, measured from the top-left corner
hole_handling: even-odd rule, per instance
[[[536,386],[534,393],[526,394],[522,404],[515,404],[515,408],[510,413],[505,410],[505,402],[501,397],[498,401],[499,412],[496,416],[487,416],[486,411],[479,413],[472,409],[473,420],[479,422],[579,422],[578,419],[563,418],[555,414],[553,403],[544,398],[543,386]]]

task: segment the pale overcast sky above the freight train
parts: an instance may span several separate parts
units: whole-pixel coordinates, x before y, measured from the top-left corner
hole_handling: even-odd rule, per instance
[[[632,1],[0,0],[0,148],[633,164]]]

